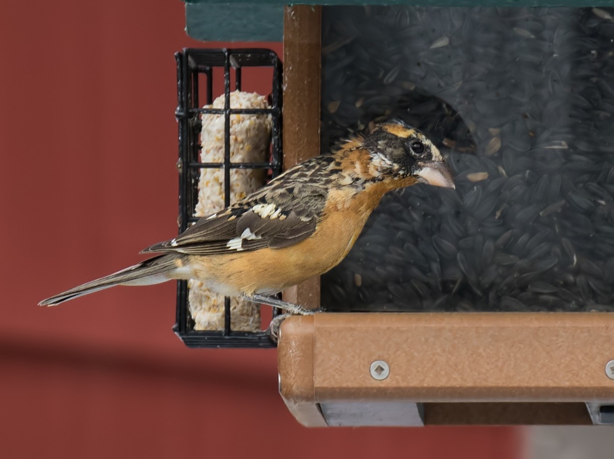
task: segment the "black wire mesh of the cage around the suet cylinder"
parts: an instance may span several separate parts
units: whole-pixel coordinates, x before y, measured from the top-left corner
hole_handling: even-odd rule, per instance
[[[177,60],[177,122],[179,123],[179,232],[196,222],[196,208],[199,203],[199,180],[207,171],[219,171],[223,177],[219,180],[223,190],[223,207],[231,204],[231,193],[236,187],[233,173],[236,171],[256,171],[266,179],[278,176],[282,169],[281,153],[281,107],[282,107],[282,64],[272,50],[262,48],[246,49],[194,49],[186,48],[176,53]],[[246,83],[247,67],[249,71],[266,71],[272,74],[271,86],[262,107],[233,106],[235,93],[241,91]],[[223,90],[214,99],[216,88]],[[233,106],[231,108],[231,106]],[[239,142],[238,136],[231,134],[231,121],[241,117],[270,122],[270,133],[266,134],[263,157],[260,161],[232,161],[233,142]],[[221,135],[209,139],[223,152],[223,160],[201,162],[201,134],[203,120],[219,123]],[[223,123],[223,129],[222,124]],[[252,123],[253,124],[253,123]],[[203,140],[204,139],[204,140]],[[217,144],[215,143],[217,142]],[[235,171],[235,172],[233,172]],[[261,184],[262,184],[261,183]],[[203,188],[203,187],[201,187]],[[235,193],[236,194],[236,193]],[[240,197],[240,196],[239,196]],[[222,203],[220,202],[220,206]],[[213,212],[210,212],[213,213]],[[237,330],[231,314],[231,299],[224,298],[222,322],[217,330],[196,330],[195,319],[190,312],[188,281],[177,282],[177,311],[174,332],[188,347],[274,347],[275,343],[266,330],[267,322],[260,322],[258,312],[257,330]],[[273,311],[273,315],[278,314]],[[236,320],[235,320],[236,322]],[[264,325],[262,325],[264,324]],[[264,329],[264,330],[263,330]]]

